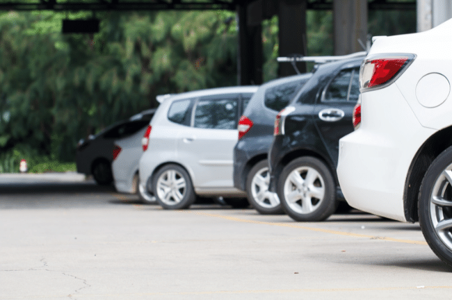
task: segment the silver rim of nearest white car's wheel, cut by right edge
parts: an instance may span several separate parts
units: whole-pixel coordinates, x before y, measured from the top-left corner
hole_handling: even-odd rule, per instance
[[[452,165],[439,174],[433,185],[430,219],[439,238],[452,250]]]

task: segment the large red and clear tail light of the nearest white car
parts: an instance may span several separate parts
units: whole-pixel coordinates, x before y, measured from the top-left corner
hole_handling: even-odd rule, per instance
[[[414,54],[380,54],[364,60],[360,70],[361,92],[390,85],[412,63]]]

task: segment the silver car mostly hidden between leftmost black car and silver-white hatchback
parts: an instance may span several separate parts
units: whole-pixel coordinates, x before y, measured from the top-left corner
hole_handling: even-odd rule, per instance
[[[125,138],[115,140],[113,142],[113,161],[111,163],[111,170],[113,174],[113,182],[118,192],[136,194],[138,192],[138,162],[141,154],[143,154],[143,147],[141,146],[141,139],[145,134],[150,119],[155,113],[155,109],[146,110],[147,119],[141,126],[140,130],[132,135],[127,135]],[[143,119],[140,113],[131,117],[131,121]],[[141,197],[144,202],[155,202],[154,197]]]

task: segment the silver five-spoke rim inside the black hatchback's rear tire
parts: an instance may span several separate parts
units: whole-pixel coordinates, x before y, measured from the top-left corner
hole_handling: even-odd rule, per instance
[[[313,213],[325,198],[325,183],[312,167],[298,167],[286,178],[284,201],[291,210],[306,215]]]

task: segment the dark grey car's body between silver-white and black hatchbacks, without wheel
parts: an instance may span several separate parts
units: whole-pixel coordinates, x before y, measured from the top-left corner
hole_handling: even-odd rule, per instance
[[[246,189],[246,178],[250,169],[267,158],[268,149],[273,142],[273,128],[277,113],[311,77],[312,74],[301,74],[264,83],[250,99],[243,115],[251,119],[253,125],[234,147],[235,188]],[[285,97],[289,97],[286,103],[279,101],[278,95],[274,95],[278,92],[286,92]]]

